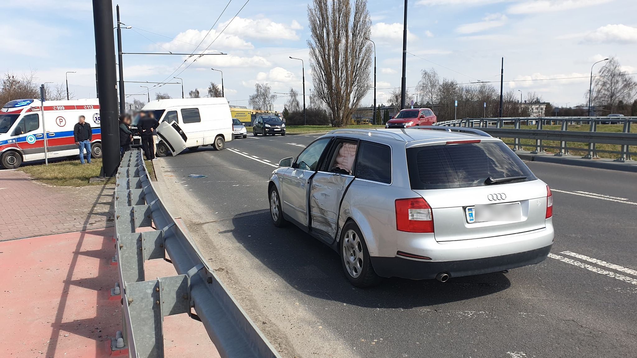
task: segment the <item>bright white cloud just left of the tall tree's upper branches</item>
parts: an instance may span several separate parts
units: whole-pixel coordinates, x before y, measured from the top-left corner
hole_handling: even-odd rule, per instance
[[[231,20],[218,25],[217,29],[223,29]],[[268,18],[241,18],[236,17],[224,33],[241,36],[252,39],[289,39],[297,40],[299,35],[297,30],[303,29],[303,26],[296,20],[292,20],[290,25],[273,22]]]

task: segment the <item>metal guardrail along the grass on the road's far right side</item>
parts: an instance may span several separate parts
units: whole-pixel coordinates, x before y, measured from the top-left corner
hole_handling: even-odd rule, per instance
[[[535,129],[522,129],[521,126],[535,125]],[[623,124],[622,132],[598,132],[598,124],[617,122]],[[568,131],[571,124],[589,124],[589,131]],[[463,118],[438,122],[436,125],[451,127],[480,128],[494,137],[513,138],[512,143],[505,142],[513,147],[513,150],[522,150],[524,147],[534,147],[533,154],[545,153],[545,148],[554,148],[558,152],[555,155],[568,155],[569,150],[587,152],[583,158],[598,158],[598,153],[618,154],[618,162],[631,161],[630,146],[637,146],[637,133],[631,133],[631,124],[637,123],[637,117],[512,117],[512,118]],[[561,130],[543,129],[544,125],[559,124]],[[535,140],[535,144],[520,143],[520,139]],[[559,141],[559,145],[546,145],[545,140]],[[588,148],[569,147],[568,143],[587,143]],[[619,145],[620,150],[598,150],[598,144]]]

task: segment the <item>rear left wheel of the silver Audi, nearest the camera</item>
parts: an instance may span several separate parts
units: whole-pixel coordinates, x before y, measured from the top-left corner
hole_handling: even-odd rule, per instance
[[[372,287],[378,285],[382,278],[376,275],[365,239],[361,229],[352,220],[345,223],[341,231],[340,248],[341,266],[347,280],[356,287]]]

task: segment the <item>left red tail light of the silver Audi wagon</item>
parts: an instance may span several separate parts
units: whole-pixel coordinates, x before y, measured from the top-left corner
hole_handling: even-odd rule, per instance
[[[407,233],[433,233],[434,215],[422,197],[396,199],[396,229]]]

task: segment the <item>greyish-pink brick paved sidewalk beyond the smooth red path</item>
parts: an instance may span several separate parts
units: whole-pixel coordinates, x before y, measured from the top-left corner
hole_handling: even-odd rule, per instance
[[[112,226],[114,188],[54,187],[0,170],[0,241]]]

